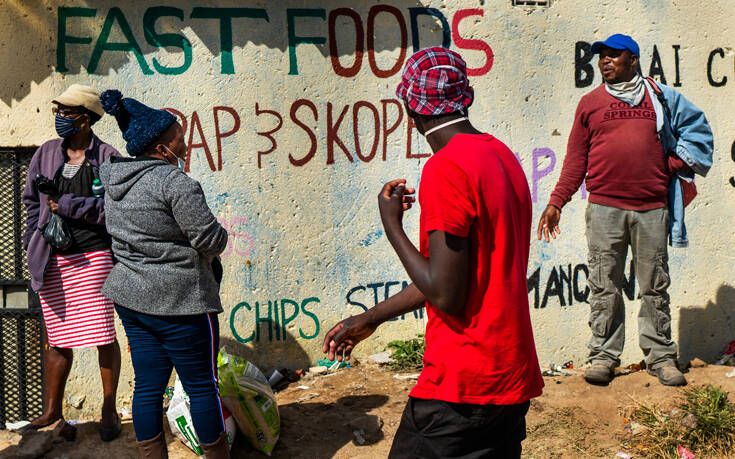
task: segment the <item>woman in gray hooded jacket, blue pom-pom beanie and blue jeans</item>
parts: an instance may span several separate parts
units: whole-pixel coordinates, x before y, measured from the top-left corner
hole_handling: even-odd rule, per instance
[[[145,458],[167,457],[163,393],[176,368],[205,457],[228,458],[216,376],[222,306],[212,269],[227,232],[182,170],[186,144],[176,117],[117,90],[101,100],[132,156],[100,168],[117,260],[102,292],[115,302],[130,345],[139,450]]]

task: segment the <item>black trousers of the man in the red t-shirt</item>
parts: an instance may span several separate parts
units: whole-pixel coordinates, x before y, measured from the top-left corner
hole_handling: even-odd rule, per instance
[[[529,402],[470,405],[409,397],[389,458],[520,458]]]

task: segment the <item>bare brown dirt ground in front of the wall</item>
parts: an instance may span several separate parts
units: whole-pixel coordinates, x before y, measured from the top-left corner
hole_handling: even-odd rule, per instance
[[[722,387],[735,401],[735,378],[725,376],[730,370],[715,365],[693,368],[687,378],[690,385]],[[620,451],[640,457],[635,438],[625,433],[625,410],[640,401],[673,406],[681,393],[681,389],[662,386],[645,372],[618,376],[608,387],[591,386],[582,379],[581,371],[572,372],[570,376],[544,378],[544,394],[531,403],[527,417],[524,457],[612,458]],[[291,384],[277,394],[282,431],[271,457],[386,457],[414,382],[363,364]],[[111,443],[99,440],[97,428],[96,422],[78,425],[76,441],[56,443],[44,457],[138,457],[130,420],[124,423],[120,438]],[[355,430],[361,432],[359,441],[364,444],[358,444]],[[170,434],[168,440],[171,458],[196,457]],[[0,431],[0,457],[15,457],[19,441],[19,435]],[[267,456],[253,451],[238,435],[232,457]]]

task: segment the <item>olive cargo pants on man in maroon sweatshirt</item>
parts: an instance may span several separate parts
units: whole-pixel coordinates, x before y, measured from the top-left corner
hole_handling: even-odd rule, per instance
[[[676,361],[671,341],[667,207],[648,211],[623,210],[590,203],[587,224],[592,330],[589,361],[609,367],[620,365],[625,343],[625,304],[621,294],[628,245],[640,287],[639,343],[648,368]]]

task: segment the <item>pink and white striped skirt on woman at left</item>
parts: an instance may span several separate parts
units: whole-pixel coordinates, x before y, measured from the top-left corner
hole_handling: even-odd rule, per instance
[[[115,307],[100,290],[112,270],[110,250],[53,255],[38,296],[49,346],[72,348],[115,340]]]

